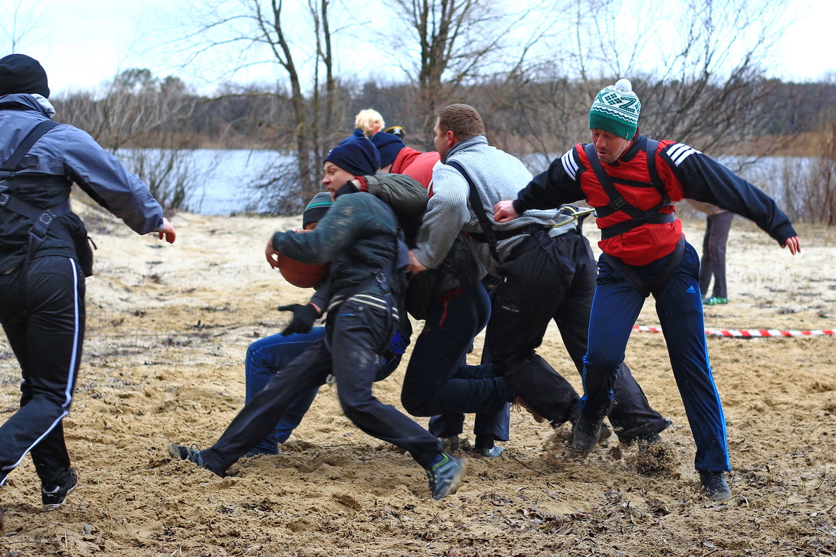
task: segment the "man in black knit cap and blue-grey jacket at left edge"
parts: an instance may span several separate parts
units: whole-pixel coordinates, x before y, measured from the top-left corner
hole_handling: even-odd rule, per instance
[[[78,481],[61,421],[81,360],[84,277],[92,273],[70,187],[136,233],[172,243],[175,231],[139,178],[84,131],[52,122],[48,96],[37,60],[0,59],[0,323],[23,374],[20,408],[0,427],[0,485],[31,452],[43,506],[57,508]]]

